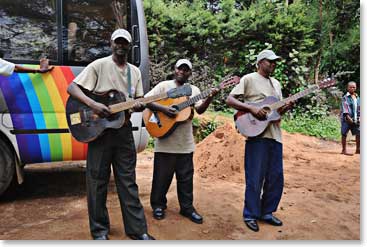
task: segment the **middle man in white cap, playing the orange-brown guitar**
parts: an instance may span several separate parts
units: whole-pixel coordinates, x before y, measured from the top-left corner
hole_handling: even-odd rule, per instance
[[[192,64],[189,60],[178,60],[175,64],[174,80],[160,82],[145,96],[155,95],[162,91],[166,92],[172,88],[187,84],[191,76],[191,71]],[[200,94],[198,87],[191,85],[191,88],[191,97]],[[218,90],[205,100],[197,101],[193,105],[192,110],[195,109],[198,114],[205,112],[213,96],[217,93]],[[172,118],[178,113],[175,108],[158,103],[148,104],[147,107],[152,111],[163,112]],[[165,209],[167,208],[166,194],[171,185],[173,175],[176,174],[177,196],[181,209],[180,214],[189,218],[194,223],[203,223],[203,217],[193,206],[194,150],[195,143],[192,118],[180,123],[169,136],[154,139],[154,170],[150,204],[155,219],[161,220],[165,217]]]

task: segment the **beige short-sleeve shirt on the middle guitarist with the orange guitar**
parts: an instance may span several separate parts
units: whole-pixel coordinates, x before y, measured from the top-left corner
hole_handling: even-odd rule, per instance
[[[145,97],[167,92],[177,85],[174,80],[162,81],[158,83]],[[200,89],[194,85],[190,85],[192,95],[194,97],[200,94]],[[195,103],[195,106],[202,104],[202,100]],[[192,153],[195,150],[195,141],[192,129],[192,120],[188,119],[180,123],[176,129],[165,138],[154,138],[154,152],[162,153]]]

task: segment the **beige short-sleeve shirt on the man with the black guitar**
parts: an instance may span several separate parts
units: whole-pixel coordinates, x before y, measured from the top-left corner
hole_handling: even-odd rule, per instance
[[[144,96],[141,72],[136,66],[127,63],[130,67],[131,75],[131,96],[132,98]],[[128,68],[120,68],[112,60],[112,56],[97,59],[90,63],[74,79],[74,82],[89,91],[102,93],[115,89],[130,95],[128,87]]]

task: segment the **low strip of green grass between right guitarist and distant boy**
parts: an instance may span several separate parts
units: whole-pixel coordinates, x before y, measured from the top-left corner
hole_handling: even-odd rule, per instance
[[[327,140],[340,140],[340,121],[335,116],[312,118],[307,115],[288,115],[282,119],[282,129]]]

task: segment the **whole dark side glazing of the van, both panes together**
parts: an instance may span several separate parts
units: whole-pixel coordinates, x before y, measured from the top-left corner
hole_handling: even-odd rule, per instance
[[[0,0],[0,5],[0,50],[19,61],[47,57],[84,66],[110,55],[111,33],[130,24],[128,0],[64,0],[62,6],[57,0]]]

